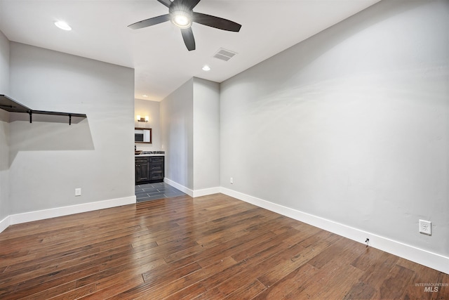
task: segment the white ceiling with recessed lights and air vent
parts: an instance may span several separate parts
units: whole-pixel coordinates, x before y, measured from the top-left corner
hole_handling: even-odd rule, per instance
[[[194,23],[195,51],[187,51],[170,22],[127,27],[168,13],[156,0],[0,0],[0,30],[11,41],[132,67],[135,98],[160,101],[192,77],[225,81],[377,1],[202,0],[194,11],[242,27],[236,33]],[[56,20],[73,30],[58,29]],[[219,48],[238,54],[218,60]],[[206,64],[209,72],[201,70]]]

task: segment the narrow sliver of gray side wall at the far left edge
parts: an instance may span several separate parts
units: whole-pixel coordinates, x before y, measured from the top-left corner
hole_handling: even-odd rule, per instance
[[[0,94],[9,94],[9,41],[0,31]],[[9,215],[9,114],[0,110],[0,221]]]

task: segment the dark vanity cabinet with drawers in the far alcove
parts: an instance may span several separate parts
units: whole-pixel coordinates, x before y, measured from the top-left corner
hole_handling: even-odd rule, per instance
[[[163,181],[163,156],[135,157],[135,184]]]

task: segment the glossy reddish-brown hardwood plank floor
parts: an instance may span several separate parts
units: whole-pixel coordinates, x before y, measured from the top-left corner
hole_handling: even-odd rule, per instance
[[[449,275],[217,194],[10,226],[0,299],[449,299]]]

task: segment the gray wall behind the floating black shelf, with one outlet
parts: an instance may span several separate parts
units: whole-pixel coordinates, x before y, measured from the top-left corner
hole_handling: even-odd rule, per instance
[[[12,98],[88,116],[69,126],[11,114],[11,214],[132,197],[133,70],[15,42],[10,58]]]

